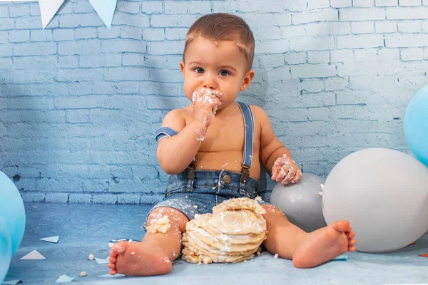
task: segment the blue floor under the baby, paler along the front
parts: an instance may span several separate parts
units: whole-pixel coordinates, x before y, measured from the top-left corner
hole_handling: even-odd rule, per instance
[[[110,239],[141,239],[150,206],[103,204],[26,204],[26,232],[12,258],[6,280],[54,284],[59,275],[76,276],[73,284],[421,284],[428,283],[428,234],[417,244],[390,254],[348,253],[315,269],[295,269],[292,262],[263,252],[239,264],[188,264],[178,259],[173,271],[153,277],[100,277],[107,264],[88,255],[108,257]],[[58,244],[42,237],[59,235]],[[388,237],[385,237],[387,239]],[[21,260],[36,249],[44,260]],[[80,277],[86,271],[86,277]]]

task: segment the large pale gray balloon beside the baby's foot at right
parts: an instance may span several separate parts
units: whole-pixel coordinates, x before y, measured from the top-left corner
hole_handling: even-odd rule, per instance
[[[360,252],[390,252],[428,229],[428,167],[397,150],[370,148],[348,155],[325,182],[328,224],[346,219]]]

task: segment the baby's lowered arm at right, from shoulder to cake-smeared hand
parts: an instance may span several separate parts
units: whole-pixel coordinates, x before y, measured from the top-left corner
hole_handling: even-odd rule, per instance
[[[272,180],[276,182],[286,184],[299,181],[302,172],[292,160],[290,150],[276,137],[269,117],[262,108],[252,108],[256,120],[260,122],[260,162],[267,171],[272,172]]]

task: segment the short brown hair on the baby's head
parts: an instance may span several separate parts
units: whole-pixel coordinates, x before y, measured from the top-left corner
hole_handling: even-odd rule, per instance
[[[185,37],[183,61],[188,45],[198,36],[208,38],[214,43],[218,41],[234,41],[247,60],[247,68],[251,69],[254,58],[254,36],[250,26],[238,16],[215,13],[200,17],[190,26]]]

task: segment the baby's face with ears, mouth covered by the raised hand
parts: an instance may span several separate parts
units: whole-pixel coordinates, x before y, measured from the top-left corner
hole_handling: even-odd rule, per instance
[[[185,96],[192,101],[194,90],[210,88],[222,94],[222,105],[218,109],[228,106],[241,90],[248,87],[244,84],[245,76],[253,72],[247,71],[245,56],[233,41],[220,41],[215,45],[213,41],[198,36],[189,44],[184,58],[180,68]]]

